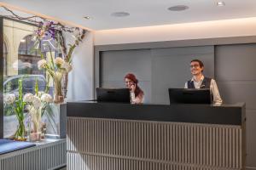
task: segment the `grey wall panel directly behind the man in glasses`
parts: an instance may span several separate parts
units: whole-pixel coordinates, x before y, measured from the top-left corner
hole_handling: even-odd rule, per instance
[[[191,78],[189,62],[201,59],[204,74],[214,77],[214,48],[166,48],[152,50],[152,102],[168,104],[168,88],[183,88]]]

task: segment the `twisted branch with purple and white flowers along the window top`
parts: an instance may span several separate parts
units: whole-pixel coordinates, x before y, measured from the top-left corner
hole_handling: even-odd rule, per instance
[[[57,43],[57,48],[61,51],[61,58],[64,59],[67,63],[72,63],[72,54],[74,48],[79,46],[79,43],[83,41],[85,37],[86,30],[81,29],[79,27],[70,27],[70,26],[64,26],[60,22],[50,21],[46,20],[40,16],[29,16],[29,17],[23,17],[19,16],[18,14],[15,14],[14,11],[12,11],[9,8],[6,8],[3,6],[3,8],[10,13],[10,15],[5,15],[6,17],[13,18],[15,20],[22,20],[26,21],[28,23],[32,23],[34,25],[38,26],[38,30],[35,31],[34,37],[35,37],[35,44],[33,50],[37,50],[39,53],[40,51],[40,44],[45,38],[52,38],[55,39],[55,42]],[[63,32],[67,32],[69,35],[72,35],[74,37],[74,41],[71,44],[67,44],[65,42],[65,38],[62,36]],[[42,59],[45,59],[44,54],[41,54]],[[64,91],[64,97],[66,97],[67,94],[67,82],[68,82],[68,73],[66,72],[64,74],[64,81],[63,81],[63,91]]]

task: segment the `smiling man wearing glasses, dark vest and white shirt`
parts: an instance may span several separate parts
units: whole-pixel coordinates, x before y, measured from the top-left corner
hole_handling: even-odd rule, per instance
[[[218,93],[217,83],[214,79],[204,77],[202,74],[204,64],[199,59],[190,61],[190,71],[193,77],[185,83],[185,88],[210,88],[214,105],[221,105],[222,99]]]

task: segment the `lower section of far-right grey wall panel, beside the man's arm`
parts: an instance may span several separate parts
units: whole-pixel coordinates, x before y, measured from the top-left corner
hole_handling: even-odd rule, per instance
[[[247,109],[256,109],[256,81],[218,81],[225,104],[246,102]]]

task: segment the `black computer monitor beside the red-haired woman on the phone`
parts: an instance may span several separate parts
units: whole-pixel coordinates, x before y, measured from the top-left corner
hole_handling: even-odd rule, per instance
[[[98,102],[131,103],[129,88],[96,88]]]

